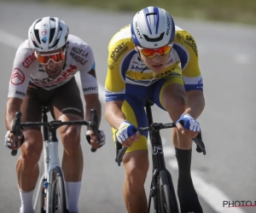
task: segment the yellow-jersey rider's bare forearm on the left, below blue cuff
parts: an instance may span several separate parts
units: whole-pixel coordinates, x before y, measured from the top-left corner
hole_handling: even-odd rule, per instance
[[[118,130],[120,124],[126,119],[121,111],[123,101],[109,101],[105,105],[105,118],[114,129]]]

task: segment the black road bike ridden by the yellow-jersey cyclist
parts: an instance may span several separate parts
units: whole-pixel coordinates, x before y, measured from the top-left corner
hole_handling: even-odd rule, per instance
[[[154,200],[154,213],[178,213],[177,196],[173,187],[172,175],[166,169],[164,149],[162,146],[160,130],[176,127],[175,123],[161,124],[154,123],[151,107],[154,102],[148,99],[145,103],[146,114],[148,118],[148,127],[139,128],[140,131],[149,131],[149,141],[152,147],[152,180],[148,199],[148,213],[150,211],[151,199]],[[206,148],[201,139],[201,131],[192,139],[196,143],[196,151],[206,155]],[[116,141],[116,158],[118,165],[121,164],[122,158],[127,150],[122,147],[119,141]]]

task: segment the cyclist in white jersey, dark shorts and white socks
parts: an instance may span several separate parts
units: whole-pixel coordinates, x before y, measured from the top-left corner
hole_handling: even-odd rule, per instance
[[[79,72],[86,107],[83,107],[79,87],[74,75]],[[90,45],[70,35],[68,26],[57,17],[35,20],[28,31],[28,40],[16,52],[13,72],[9,81],[5,123],[8,130],[5,146],[12,150],[14,134],[11,127],[15,112],[22,113],[21,122],[42,119],[42,106],[48,105],[53,118],[61,121],[90,118],[90,109],[98,112],[101,121],[102,106],[98,96],[95,59]],[[62,170],[67,187],[70,212],[79,212],[78,201],[83,171],[83,153],[80,146],[80,126],[59,128],[64,147]],[[88,130],[90,145],[105,144],[100,130],[101,143],[96,143],[92,130]],[[43,143],[40,128],[24,128],[20,133],[20,158],[16,170],[20,189],[20,213],[32,213],[32,194],[38,180]],[[21,146],[22,145],[22,146]]]

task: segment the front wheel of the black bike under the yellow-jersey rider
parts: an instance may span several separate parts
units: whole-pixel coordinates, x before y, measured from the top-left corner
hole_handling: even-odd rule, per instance
[[[165,170],[160,171],[158,184],[160,213],[178,213],[179,210],[174,187]]]

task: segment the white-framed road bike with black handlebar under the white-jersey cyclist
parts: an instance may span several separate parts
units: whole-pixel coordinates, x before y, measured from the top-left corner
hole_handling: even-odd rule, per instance
[[[65,121],[52,120],[48,122],[47,112],[48,106],[42,107],[42,122],[26,122],[20,123],[21,112],[15,113],[15,122],[12,131],[15,134],[15,147],[18,144],[18,136],[23,127],[41,126],[43,127],[43,143],[44,143],[44,174],[41,176],[38,183],[38,191],[34,201],[33,209],[40,213],[69,213],[67,192],[63,171],[58,154],[59,141],[56,136],[56,130],[62,125],[86,125],[89,126],[95,133],[97,141],[98,135],[98,118],[95,109],[91,109],[90,113],[92,120],[76,120]],[[17,150],[12,151],[15,156]],[[42,168],[41,168],[42,169]]]

